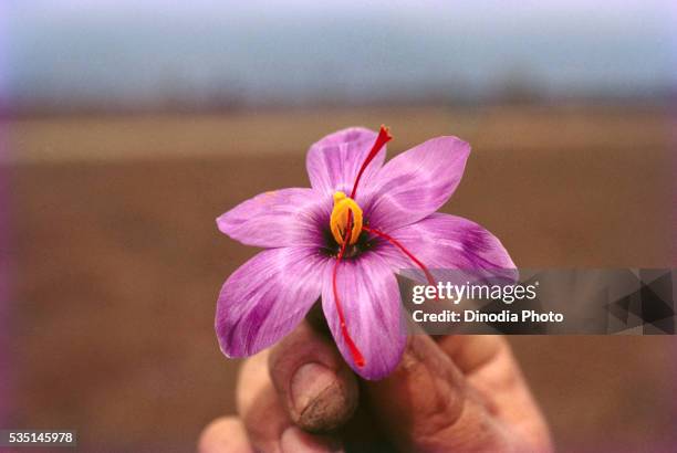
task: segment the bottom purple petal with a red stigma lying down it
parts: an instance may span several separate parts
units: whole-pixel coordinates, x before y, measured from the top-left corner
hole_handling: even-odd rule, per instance
[[[332,291],[332,268],[326,266],[322,308],[345,361],[365,379],[386,377],[399,362],[406,343],[397,280],[386,261],[375,253],[338,264],[336,289],[347,330],[365,359],[357,367],[343,337]]]

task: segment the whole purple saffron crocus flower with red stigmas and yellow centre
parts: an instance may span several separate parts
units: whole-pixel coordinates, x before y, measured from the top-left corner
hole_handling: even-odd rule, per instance
[[[346,362],[382,379],[406,344],[396,273],[513,268],[500,241],[469,220],[437,213],[458,186],[470,146],[437,137],[384,165],[387,128],[331,134],[306,157],[311,188],[249,199],[217,219],[243,244],[264,247],[223,284],[216,331],[228,357],[280,340],[322,299]]]

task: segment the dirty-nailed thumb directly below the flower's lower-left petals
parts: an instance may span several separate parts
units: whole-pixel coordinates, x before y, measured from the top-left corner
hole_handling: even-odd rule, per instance
[[[273,348],[271,379],[291,419],[310,432],[343,425],[357,407],[355,376],[333,346],[308,323]]]

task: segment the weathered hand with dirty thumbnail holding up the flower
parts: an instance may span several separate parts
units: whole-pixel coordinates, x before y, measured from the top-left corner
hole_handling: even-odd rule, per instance
[[[200,453],[552,451],[503,337],[410,336],[395,371],[366,381],[315,324],[247,360],[238,415],[209,424]]]

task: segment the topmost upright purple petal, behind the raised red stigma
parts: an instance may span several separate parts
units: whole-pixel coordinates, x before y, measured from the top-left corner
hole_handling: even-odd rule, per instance
[[[311,146],[305,166],[313,189],[330,196],[337,190],[350,194],[377,136],[373,130],[352,127],[327,135]],[[385,155],[384,147],[364,171],[361,187],[368,186],[374,179],[383,166]]]

